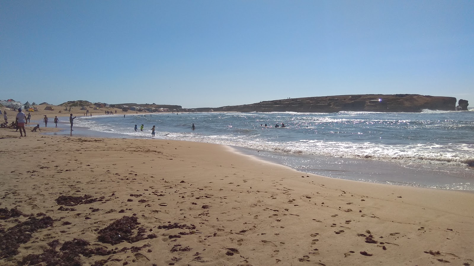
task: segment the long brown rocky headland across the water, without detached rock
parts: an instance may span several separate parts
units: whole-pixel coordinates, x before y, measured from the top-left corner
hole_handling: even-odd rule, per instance
[[[208,109],[208,108],[196,108]],[[210,108],[209,108],[210,109]],[[335,113],[339,111],[356,112],[410,112],[417,113],[423,109],[454,111],[456,98],[440,96],[423,96],[418,94],[366,94],[339,95],[326,97],[308,97],[263,101],[239,106],[222,106],[214,111],[237,112],[302,112],[302,113]],[[199,110],[205,111],[205,110]]]

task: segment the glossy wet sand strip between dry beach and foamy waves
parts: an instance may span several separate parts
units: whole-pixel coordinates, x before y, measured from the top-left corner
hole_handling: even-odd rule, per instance
[[[73,134],[68,134],[64,124],[64,133],[47,133],[58,135],[80,135],[83,137],[150,139],[145,136],[134,136],[122,133],[96,131],[89,127],[75,127]],[[159,138],[153,138],[158,140]],[[164,139],[167,140],[167,139]],[[210,142],[202,142],[210,143]],[[395,186],[415,186],[448,190],[474,191],[474,184],[468,178],[470,168],[457,166],[417,165],[383,160],[362,160],[356,158],[324,157],[306,154],[282,153],[277,151],[255,150],[233,146],[238,152],[260,158],[267,162],[289,166],[292,169],[325,177],[390,184]],[[451,169],[452,168],[452,169]]]

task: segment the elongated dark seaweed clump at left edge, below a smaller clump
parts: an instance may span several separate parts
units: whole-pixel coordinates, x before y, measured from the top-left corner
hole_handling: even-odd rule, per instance
[[[17,255],[20,245],[27,243],[34,232],[52,225],[53,219],[46,216],[41,219],[30,217],[27,221],[10,227],[5,233],[0,234],[0,258]]]

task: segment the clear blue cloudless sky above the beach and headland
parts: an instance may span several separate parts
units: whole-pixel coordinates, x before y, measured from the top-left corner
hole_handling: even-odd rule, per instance
[[[472,107],[473,14],[472,0],[0,0],[0,99],[413,93]]]

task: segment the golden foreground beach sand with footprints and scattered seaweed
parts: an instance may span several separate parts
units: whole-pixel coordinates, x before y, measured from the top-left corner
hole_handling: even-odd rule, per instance
[[[27,133],[0,129],[2,266],[474,265],[473,193],[309,175],[208,143]]]

